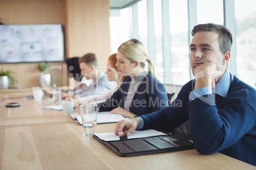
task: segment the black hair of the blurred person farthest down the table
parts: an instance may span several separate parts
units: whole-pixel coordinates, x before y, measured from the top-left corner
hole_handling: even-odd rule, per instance
[[[78,57],[73,57],[73,58],[68,58],[66,60],[67,68],[70,72],[70,74],[73,75],[73,77],[76,79],[76,81],[79,79],[81,81],[82,76],[81,75],[81,70],[79,67],[78,63]]]

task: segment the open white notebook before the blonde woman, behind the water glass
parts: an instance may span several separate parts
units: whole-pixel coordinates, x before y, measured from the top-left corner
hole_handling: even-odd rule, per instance
[[[122,115],[108,113],[109,112],[97,112],[97,124],[113,123],[125,119]],[[71,114],[71,118],[75,121],[78,121],[82,125],[82,119],[80,114]]]

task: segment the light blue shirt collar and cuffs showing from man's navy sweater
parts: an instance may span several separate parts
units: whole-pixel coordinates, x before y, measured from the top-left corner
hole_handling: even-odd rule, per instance
[[[231,85],[231,82],[233,80],[234,75],[230,74],[229,70],[226,69],[224,75],[220,78],[214,89],[211,90],[210,87],[204,87],[191,91],[188,96],[189,101],[199,98],[203,95],[208,95],[212,93],[216,93],[225,98],[227,96],[227,92],[229,91],[229,86]],[[141,123],[139,124],[139,128],[137,129],[141,129],[144,126],[144,119],[142,117],[138,118],[140,119]]]

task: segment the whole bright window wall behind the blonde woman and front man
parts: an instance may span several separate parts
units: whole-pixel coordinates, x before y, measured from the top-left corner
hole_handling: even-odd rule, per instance
[[[239,79],[256,87],[255,6],[255,0],[141,0],[136,6],[129,7],[138,8],[138,23],[131,22],[129,15],[132,10],[127,8],[121,10],[118,19],[111,18],[111,51],[116,52],[118,46],[129,39],[129,31],[132,32],[129,23],[133,24],[133,28],[138,28],[138,39],[156,63],[157,74],[171,77],[167,81],[168,77],[159,76],[159,80],[183,85],[194,78],[190,73],[190,31],[199,23],[223,25],[225,13],[225,24],[236,42],[232,46],[229,70],[235,75],[237,72]]]

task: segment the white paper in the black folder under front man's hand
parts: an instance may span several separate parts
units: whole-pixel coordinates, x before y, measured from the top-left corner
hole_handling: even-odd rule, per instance
[[[115,133],[94,133],[98,138],[104,141],[117,141],[120,140],[119,136]],[[166,133],[162,133],[160,131],[156,131],[154,129],[148,129],[145,131],[134,131],[130,136],[127,136],[127,139],[135,139],[135,138],[146,138],[152,136],[161,136],[166,135]]]

